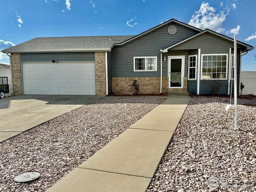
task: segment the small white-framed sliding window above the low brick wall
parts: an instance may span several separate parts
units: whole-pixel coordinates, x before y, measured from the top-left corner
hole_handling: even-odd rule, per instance
[[[134,71],[157,71],[157,57],[134,57]]]

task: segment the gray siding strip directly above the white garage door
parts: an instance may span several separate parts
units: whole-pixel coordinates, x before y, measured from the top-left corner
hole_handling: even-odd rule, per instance
[[[21,53],[21,62],[94,61],[94,52]]]

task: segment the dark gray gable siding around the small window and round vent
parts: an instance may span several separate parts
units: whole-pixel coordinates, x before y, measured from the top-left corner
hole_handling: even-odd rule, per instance
[[[170,25],[176,26],[176,34],[168,34],[167,30]],[[194,34],[196,34],[196,31],[192,29],[176,23],[171,23],[133,40],[132,42],[128,42],[122,46],[115,46],[112,49],[112,77],[159,77],[160,49],[164,49]],[[157,56],[157,71],[134,72],[133,58],[135,56]],[[167,76],[167,73],[163,75]]]

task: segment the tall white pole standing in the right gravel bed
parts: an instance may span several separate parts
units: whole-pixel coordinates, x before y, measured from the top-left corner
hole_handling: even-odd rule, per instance
[[[234,36],[234,107],[235,107],[235,130],[237,130],[237,49],[236,35]]]

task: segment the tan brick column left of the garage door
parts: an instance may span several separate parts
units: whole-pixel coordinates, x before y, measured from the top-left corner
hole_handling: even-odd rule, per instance
[[[13,95],[22,95],[20,54],[12,53],[10,56],[12,68],[12,92]]]

